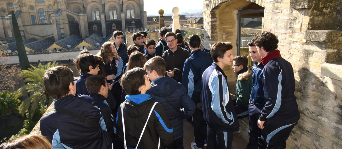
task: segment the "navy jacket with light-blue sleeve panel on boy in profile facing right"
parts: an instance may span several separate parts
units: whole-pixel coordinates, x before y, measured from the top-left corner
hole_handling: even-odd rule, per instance
[[[239,131],[227,76],[215,63],[202,75],[202,111],[209,127],[218,131]]]

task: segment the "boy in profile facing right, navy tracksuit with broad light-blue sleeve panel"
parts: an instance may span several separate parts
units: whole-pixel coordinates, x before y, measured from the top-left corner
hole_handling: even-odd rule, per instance
[[[230,149],[233,131],[239,131],[239,122],[222,70],[233,63],[233,45],[215,43],[210,51],[214,61],[202,75],[202,110],[207,122],[207,149]]]

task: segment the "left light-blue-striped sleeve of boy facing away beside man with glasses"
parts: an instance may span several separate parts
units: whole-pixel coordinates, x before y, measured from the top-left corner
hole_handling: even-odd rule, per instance
[[[188,60],[184,63],[183,74],[182,74],[182,84],[188,91],[190,98],[194,93],[194,73],[192,72]]]

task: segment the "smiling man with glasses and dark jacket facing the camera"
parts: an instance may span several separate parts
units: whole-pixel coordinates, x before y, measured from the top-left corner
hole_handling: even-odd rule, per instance
[[[165,35],[169,47],[161,57],[166,62],[166,75],[177,82],[182,82],[182,73],[185,60],[190,56],[189,51],[177,46],[177,36],[173,32]]]

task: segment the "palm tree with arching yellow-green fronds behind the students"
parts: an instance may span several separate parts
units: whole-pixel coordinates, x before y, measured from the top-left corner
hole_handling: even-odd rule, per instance
[[[47,97],[44,94],[44,82],[43,76],[45,74],[45,70],[49,68],[57,66],[58,63],[49,62],[46,65],[42,65],[39,63],[38,67],[32,66],[32,68],[28,68],[29,70],[22,70],[22,73],[19,74],[20,77],[25,78],[25,85],[20,87],[15,94],[18,97],[23,97],[24,95],[28,95],[28,97],[22,101],[19,106],[19,112],[24,116],[25,111],[30,108],[29,113],[30,117],[34,115],[36,110],[44,107],[45,101],[49,101],[49,105],[52,103],[53,98]],[[42,111],[44,113],[44,111]]]

